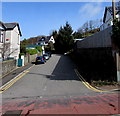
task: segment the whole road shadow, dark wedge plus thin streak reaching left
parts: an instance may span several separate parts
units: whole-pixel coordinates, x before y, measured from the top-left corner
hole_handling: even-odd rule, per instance
[[[62,81],[78,80],[78,81],[80,81],[80,79],[77,77],[77,75],[75,73],[76,65],[70,59],[70,57],[61,55],[61,54],[54,54],[53,59],[56,59],[56,57],[60,57],[60,58],[59,58],[59,61],[56,65],[56,67],[54,68],[52,74],[46,75],[42,72],[41,73],[40,72],[29,72],[28,74],[40,75],[43,78],[48,78],[49,80],[62,80]],[[54,62],[52,62],[52,63],[54,63]],[[44,64],[44,65],[48,65],[48,64]]]

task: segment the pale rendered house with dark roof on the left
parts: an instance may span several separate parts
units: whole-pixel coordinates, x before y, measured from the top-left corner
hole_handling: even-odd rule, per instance
[[[1,55],[4,59],[18,59],[20,53],[20,37],[22,36],[18,23],[1,23],[4,27],[4,37],[1,42]],[[3,31],[1,31],[2,33]],[[2,34],[1,34],[2,35]]]

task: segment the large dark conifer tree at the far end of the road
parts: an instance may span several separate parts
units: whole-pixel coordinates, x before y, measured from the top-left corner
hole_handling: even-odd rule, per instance
[[[65,53],[73,47],[73,30],[70,24],[66,22],[65,26],[61,26],[55,40],[55,50]]]

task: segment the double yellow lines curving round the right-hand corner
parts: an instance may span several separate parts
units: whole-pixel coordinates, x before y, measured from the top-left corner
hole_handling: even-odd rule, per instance
[[[90,90],[92,91],[97,91],[97,92],[114,92],[114,91],[103,91],[103,90],[99,90],[99,89],[96,89],[94,87],[92,87],[88,82],[85,81],[85,79],[79,74],[79,72],[77,71],[77,69],[75,69],[75,72],[77,74],[77,76],[79,77],[79,79],[82,81],[82,83]]]

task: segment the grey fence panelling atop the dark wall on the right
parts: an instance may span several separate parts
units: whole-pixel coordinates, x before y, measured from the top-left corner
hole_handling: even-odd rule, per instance
[[[77,48],[112,47],[111,32],[112,27],[109,27],[103,31],[95,33],[94,35],[89,36],[82,41],[78,41]]]

